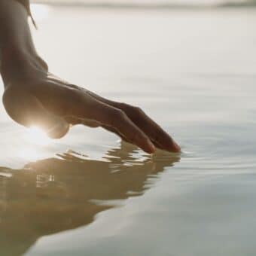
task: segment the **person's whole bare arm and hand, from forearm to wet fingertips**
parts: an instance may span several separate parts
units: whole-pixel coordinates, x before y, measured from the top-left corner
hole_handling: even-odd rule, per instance
[[[0,1],[0,72],[5,110],[23,126],[39,126],[54,139],[65,136],[75,124],[101,126],[150,154],[156,148],[180,151],[142,109],[52,75],[35,50],[26,9],[14,0]]]

